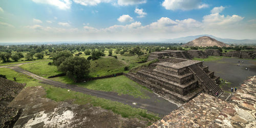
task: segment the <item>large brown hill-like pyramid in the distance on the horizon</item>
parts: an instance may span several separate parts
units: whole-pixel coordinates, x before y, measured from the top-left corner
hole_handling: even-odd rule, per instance
[[[187,42],[187,44],[184,44],[184,46],[218,46],[218,47],[229,47],[229,45],[226,45],[224,42],[218,41],[214,38],[208,37],[208,36],[202,36],[199,38],[194,39],[193,41]]]

